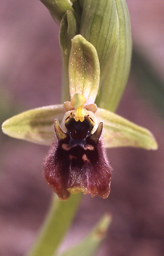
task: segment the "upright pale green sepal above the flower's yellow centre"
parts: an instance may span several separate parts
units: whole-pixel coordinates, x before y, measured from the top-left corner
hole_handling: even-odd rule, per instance
[[[99,86],[99,61],[95,47],[80,34],[72,39],[69,59],[70,96],[82,94],[94,103]]]

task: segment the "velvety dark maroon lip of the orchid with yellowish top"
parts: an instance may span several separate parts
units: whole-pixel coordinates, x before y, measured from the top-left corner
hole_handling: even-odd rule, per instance
[[[63,129],[55,119],[55,141],[45,159],[44,176],[60,200],[81,191],[105,199],[110,193],[112,168],[104,147],[103,123],[96,125],[95,104],[79,106],[75,96],[64,105],[68,111]]]

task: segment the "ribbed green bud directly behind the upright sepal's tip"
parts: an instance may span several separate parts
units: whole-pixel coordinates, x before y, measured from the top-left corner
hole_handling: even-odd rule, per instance
[[[96,48],[102,79],[108,71],[119,40],[119,19],[115,1],[85,1],[80,34]]]

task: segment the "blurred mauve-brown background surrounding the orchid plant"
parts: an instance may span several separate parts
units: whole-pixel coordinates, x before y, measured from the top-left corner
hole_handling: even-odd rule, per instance
[[[157,91],[158,87],[161,89],[160,98],[160,81],[164,78],[164,2],[127,0],[127,4],[134,45],[147,60],[144,68],[148,68],[147,76],[153,75]],[[21,111],[60,103],[59,27],[47,9],[39,0],[1,1],[0,24],[1,123]],[[137,68],[138,74],[144,68],[137,59],[133,61],[136,66],[117,113],[152,131],[159,149],[108,150],[114,169],[111,194],[106,200],[83,197],[60,251],[80,241],[109,212],[112,224],[98,256],[162,255],[164,114],[158,97],[153,99],[157,91],[149,96],[151,83],[144,80],[143,74],[136,79]],[[48,147],[19,141],[2,132],[0,139],[0,255],[22,256],[32,246],[52,198],[43,178],[42,163]]]

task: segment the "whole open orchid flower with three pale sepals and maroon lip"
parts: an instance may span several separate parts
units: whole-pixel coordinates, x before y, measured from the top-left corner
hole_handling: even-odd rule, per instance
[[[72,39],[68,73],[70,101],[18,114],[5,121],[2,129],[11,137],[52,145],[44,176],[60,200],[80,191],[105,199],[112,172],[105,148],[157,149],[157,142],[143,127],[96,106],[98,55],[80,34]]]

